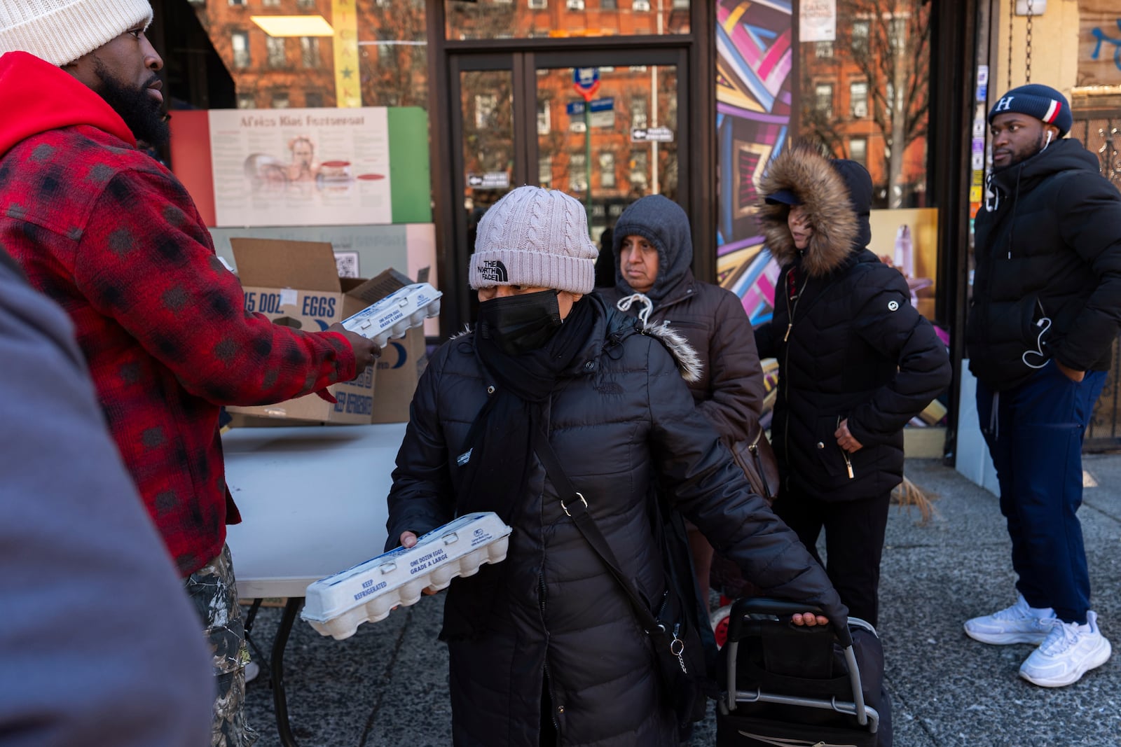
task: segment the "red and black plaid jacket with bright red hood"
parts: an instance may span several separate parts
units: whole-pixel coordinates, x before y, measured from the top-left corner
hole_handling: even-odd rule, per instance
[[[186,189],[70,74],[0,56],[0,246],[70,314],[124,464],[188,576],[225,542],[219,407],[349,381],[354,354],[340,334],[247,312]]]

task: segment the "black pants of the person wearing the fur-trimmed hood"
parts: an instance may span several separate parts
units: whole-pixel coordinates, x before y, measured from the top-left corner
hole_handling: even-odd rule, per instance
[[[873,626],[880,610],[880,557],[890,504],[890,492],[858,501],[819,501],[784,491],[775,501],[775,513],[819,563],[817,536],[825,530],[827,562],[822,566],[849,615]]]

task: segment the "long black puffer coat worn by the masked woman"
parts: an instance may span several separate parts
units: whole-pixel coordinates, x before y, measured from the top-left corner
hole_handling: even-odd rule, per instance
[[[578,302],[594,304],[597,318],[552,396],[549,440],[641,594],[658,599],[665,587],[649,521],[657,475],[677,510],[768,594],[845,615],[824,571],[750,492],[661,339],[594,296]],[[389,495],[392,543],[455,514],[454,455],[491,383],[475,355],[473,334],[452,339],[420,377]],[[455,744],[535,747],[547,682],[560,744],[676,747],[649,638],[627,597],[539,460],[528,486],[503,561],[508,617],[493,635],[448,643]]]

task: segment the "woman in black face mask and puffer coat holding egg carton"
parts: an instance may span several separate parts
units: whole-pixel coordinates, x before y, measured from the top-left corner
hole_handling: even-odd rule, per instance
[[[472,511],[513,527],[503,562],[448,589],[441,637],[460,747],[678,744],[650,638],[562,507],[538,430],[651,607],[666,588],[650,522],[660,478],[767,594],[847,614],[694,408],[687,344],[583,296],[594,256],[583,206],[562,193],[521,187],[488,211],[471,258],[478,330],[433,355],[397,457],[390,545]]]

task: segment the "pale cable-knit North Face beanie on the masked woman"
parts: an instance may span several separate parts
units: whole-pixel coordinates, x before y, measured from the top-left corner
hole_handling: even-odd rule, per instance
[[[531,286],[590,293],[600,251],[584,206],[556,189],[518,187],[479,221],[471,287]]]

